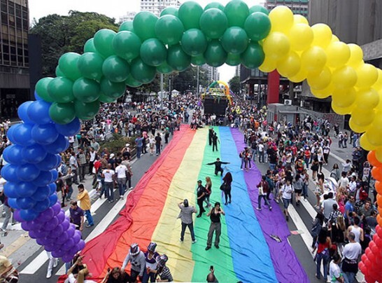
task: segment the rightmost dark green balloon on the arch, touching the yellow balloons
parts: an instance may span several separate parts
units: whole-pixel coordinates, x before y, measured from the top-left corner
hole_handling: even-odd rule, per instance
[[[255,12],[248,15],[244,23],[244,29],[248,37],[253,41],[261,41],[265,39],[271,31],[271,20],[261,12]]]

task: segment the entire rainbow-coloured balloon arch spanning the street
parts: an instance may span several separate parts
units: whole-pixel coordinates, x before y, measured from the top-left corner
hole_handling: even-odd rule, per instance
[[[8,130],[1,170],[4,191],[15,219],[30,237],[70,261],[85,242],[57,203],[55,180],[68,136],[80,130],[80,120],[92,119],[102,102],[114,102],[126,85],[150,83],[155,74],[183,71],[190,64],[219,67],[243,64],[249,69],[277,69],[290,81],[307,79],[318,98],[332,95],[332,109],[351,114],[350,126],[363,132],[361,146],[378,191],[382,212],[382,71],[362,60],[362,49],[339,41],[324,24],[309,26],[285,6],[270,13],[240,0],[208,4],[189,1],[165,8],[157,18],[138,13],[118,33],[101,29],[84,46],[83,55],[65,53],[55,78],[36,84],[36,101],[18,109],[22,123]],[[381,281],[382,218],[360,262],[367,282]]]

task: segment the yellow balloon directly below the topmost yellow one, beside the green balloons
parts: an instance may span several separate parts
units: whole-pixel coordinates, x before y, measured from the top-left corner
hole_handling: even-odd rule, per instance
[[[274,60],[280,60],[288,55],[290,43],[288,36],[281,32],[271,32],[262,45],[265,55]]]

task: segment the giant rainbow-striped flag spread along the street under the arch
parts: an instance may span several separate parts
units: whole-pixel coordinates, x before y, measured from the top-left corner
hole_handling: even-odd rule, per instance
[[[239,151],[243,135],[237,129],[215,127],[220,144],[213,152],[208,145],[208,129],[190,130],[187,126],[174,134],[162,156],[142,177],[127,198],[125,209],[113,225],[87,242],[83,254],[94,277],[102,278],[108,268],[121,266],[129,245],[139,243],[146,250],[149,242],[157,242],[157,251],[169,256],[168,266],[176,282],[205,282],[214,265],[220,282],[309,282],[295,252],[288,244],[290,235],[280,207],[272,212],[257,211],[257,188],[261,172],[240,170]],[[180,242],[181,221],[178,202],[187,198],[196,204],[197,180],[211,177],[211,202],[224,203],[220,191],[221,177],[214,167],[206,165],[220,158],[230,164],[232,172],[232,203],[222,205],[220,249],[205,251],[210,220],[195,218],[197,243],[192,244],[186,230]],[[270,235],[278,235],[276,242]]]

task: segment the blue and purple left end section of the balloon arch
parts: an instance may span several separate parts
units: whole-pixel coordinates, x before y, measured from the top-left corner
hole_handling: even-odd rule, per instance
[[[55,257],[70,261],[83,249],[80,231],[69,223],[57,203],[57,168],[61,163],[58,154],[69,147],[65,137],[80,130],[80,121],[57,125],[49,115],[51,104],[36,95],[35,102],[24,102],[17,110],[23,123],[8,130],[8,139],[13,143],[3,151],[8,163],[1,170],[7,180],[4,193],[8,205],[15,209],[15,219],[29,231],[45,250]]]

